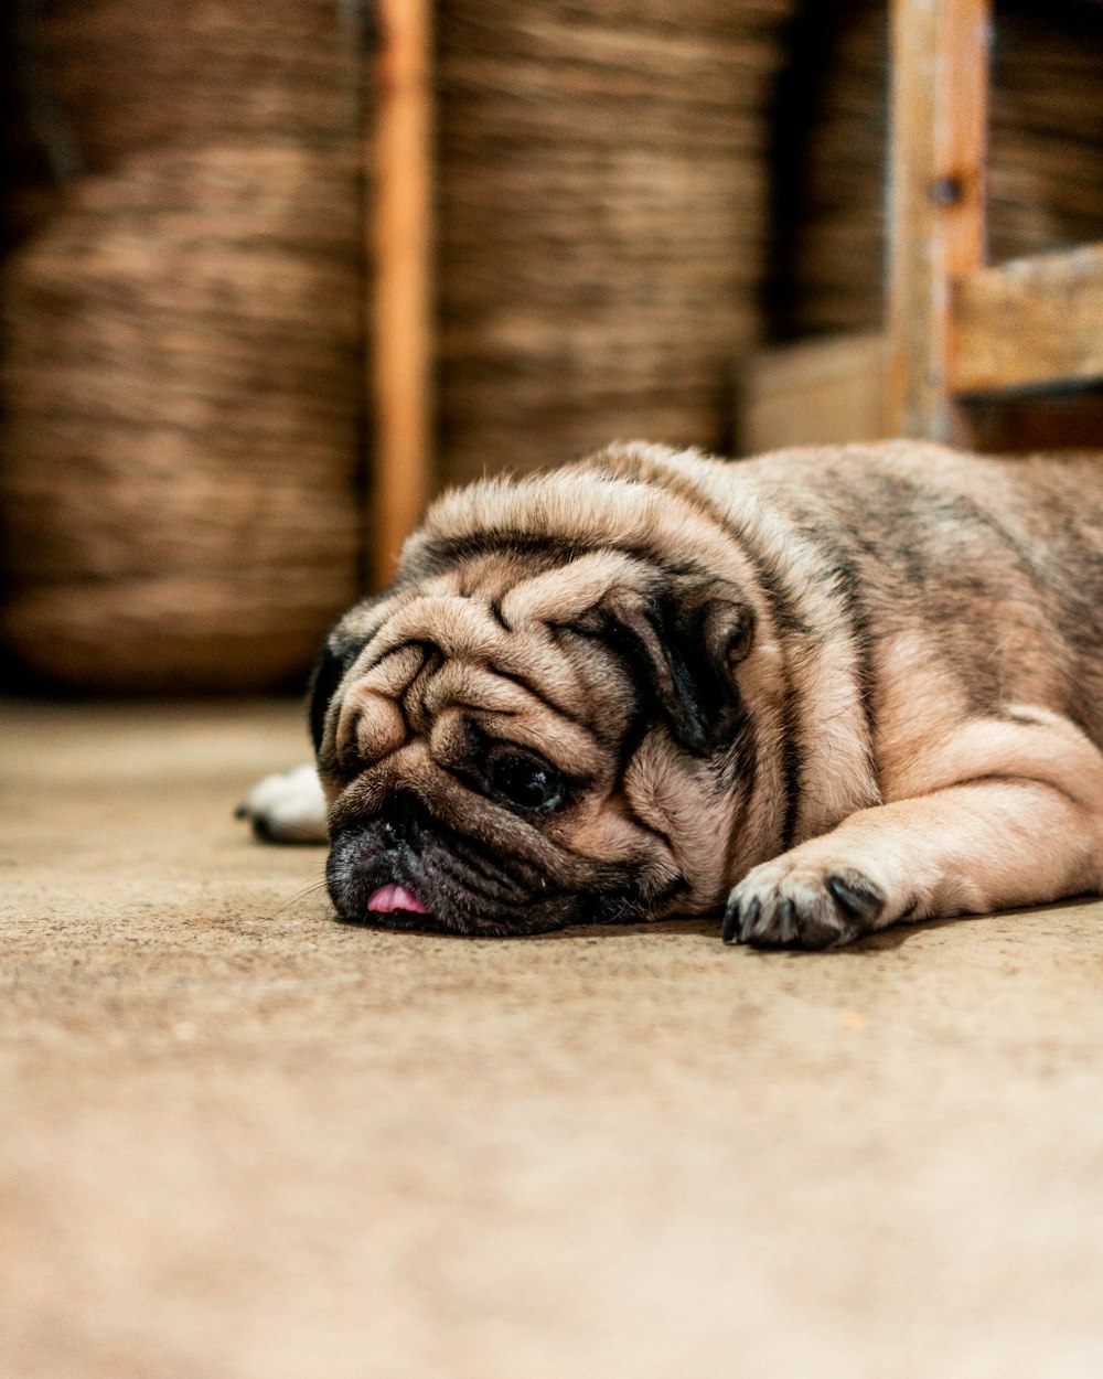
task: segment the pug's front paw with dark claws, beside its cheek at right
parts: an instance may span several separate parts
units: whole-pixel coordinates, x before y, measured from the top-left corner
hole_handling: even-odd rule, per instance
[[[749,872],[728,896],[724,942],[826,949],[885,924],[884,889],[852,866],[820,869],[787,856]]]

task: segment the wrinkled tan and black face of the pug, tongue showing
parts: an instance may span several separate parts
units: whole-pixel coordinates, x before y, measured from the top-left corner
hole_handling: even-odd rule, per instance
[[[731,659],[749,629],[725,608]],[[531,934],[718,905],[746,743],[678,619],[615,553],[494,553],[353,610],[312,713],[339,914]],[[699,608],[692,637],[717,636]]]

